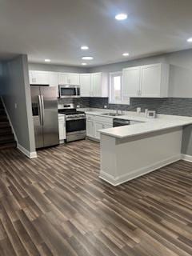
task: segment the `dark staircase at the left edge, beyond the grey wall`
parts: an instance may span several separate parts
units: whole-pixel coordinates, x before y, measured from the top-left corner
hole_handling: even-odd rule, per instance
[[[14,140],[10,122],[0,99],[0,150],[15,148],[17,143]]]

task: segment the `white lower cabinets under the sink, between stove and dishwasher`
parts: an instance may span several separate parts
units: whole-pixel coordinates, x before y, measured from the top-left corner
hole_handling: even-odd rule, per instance
[[[98,115],[86,115],[86,136],[94,140],[100,140],[98,130],[108,129],[113,127],[113,118],[106,118]]]

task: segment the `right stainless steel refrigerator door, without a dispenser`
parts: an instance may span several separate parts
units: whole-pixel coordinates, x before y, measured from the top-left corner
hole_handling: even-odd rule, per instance
[[[41,86],[43,140],[44,146],[59,144],[58,137],[58,98],[55,97],[55,87]]]

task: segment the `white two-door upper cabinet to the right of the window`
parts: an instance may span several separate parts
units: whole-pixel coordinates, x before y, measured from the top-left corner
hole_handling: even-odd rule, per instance
[[[122,97],[168,97],[169,65],[158,63],[122,71]]]

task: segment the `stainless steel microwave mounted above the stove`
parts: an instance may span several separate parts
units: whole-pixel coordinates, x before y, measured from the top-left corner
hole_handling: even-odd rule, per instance
[[[79,98],[80,94],[80,86],[73,85],[59,85],[59,97],[60,98]]]

